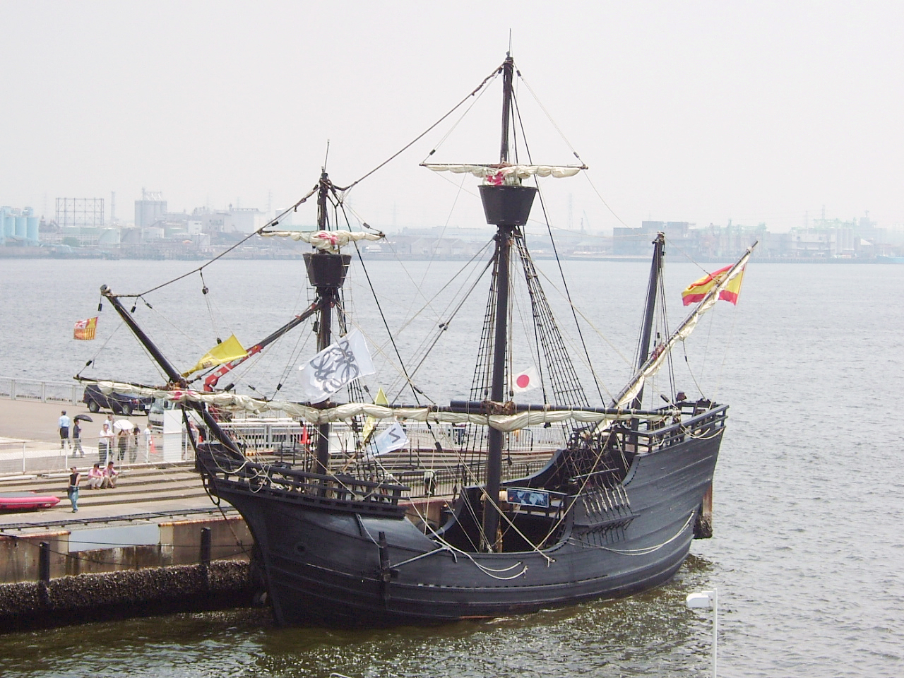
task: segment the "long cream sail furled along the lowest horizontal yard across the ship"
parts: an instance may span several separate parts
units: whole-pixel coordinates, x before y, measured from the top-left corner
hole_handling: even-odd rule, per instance
[[[311,424],[326,424],[334,421],[350,421],[355,417],[372,419],[397,419],[408,421],[429,421],[446,424],[479,424],[504,432],[519,428],[560,421],[579,421],[588,424],[606,424],[630,419],[665,419],[671,416],[668,410],[645,412],[638,410],[529,410],[514,414],[478,414],[472,412],[450,412],[432,408],[399,408],[376,405],[368,402],[349,402],[326,410],[318,410],[307,405],[287,400],[259,400],[236,393],[205,393],[201,391],[165,391],[146,386],[98,381],[98,388],[104,393],[116,391],[142,397],[162,398],[174,402],[202,402],[221,410],[245,410],[259,412],[279,410],[291,417],[304,419]]]

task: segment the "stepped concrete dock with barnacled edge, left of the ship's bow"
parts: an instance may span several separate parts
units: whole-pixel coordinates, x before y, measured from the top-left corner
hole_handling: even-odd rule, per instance
[[[60,450],[57,422],[89,414],[85,457]],[[0,400],[0,493],[60,497],[53,508],[0,512],[0,630],[94,618],[250,604],[253,540],[240,515],[216,505],[192,462],[117,462],[117,486],[89,489],[105,413]],[[118,417],[116,419],[119,419]],[[146,419],[128,418],[141,428]],[[160,455],[156,455],[160,457]],[[82,472],[79,512],[67,466]],[[24,473],[23,473],[24,468]]]

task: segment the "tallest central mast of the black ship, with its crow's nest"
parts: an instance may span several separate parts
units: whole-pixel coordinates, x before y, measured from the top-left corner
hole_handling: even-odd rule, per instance
[[[503,63],[503,125],[499,150],[500,164],[509,162],[509,128],[512,118],[512,80],[514,60],[506,55]],[[494,318],[493,372],[490,384],[490,400],[505,400],[505,359],[508,336],[509,267],[513,235],[527,223],[537,189],[522,186],[514,175],[505,184],[481,185],[480,198],[484,203],[486,222],[496,227],[495,286],[496,313]],[[504,434],[490,428],[487,438],[486,494],[484,498],[483,548],[495,551],[499,530],[499,489],[502,484],[502,459]]]

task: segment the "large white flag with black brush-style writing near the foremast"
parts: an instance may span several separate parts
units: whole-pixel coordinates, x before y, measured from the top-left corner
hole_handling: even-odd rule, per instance
[[[298,369],[302,392],[310,402],[322,402],[358,377],[376,372],[367,342],[358,330],[330,344]]]

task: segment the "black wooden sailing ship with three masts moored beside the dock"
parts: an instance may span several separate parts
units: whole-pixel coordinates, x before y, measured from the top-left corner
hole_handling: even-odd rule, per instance
[[[292,324],[315,320],[318,353],[306,369],[308,386],[313,384],[312,392],[321,395],[300,403],[262,402],[228,390],[193,391],[122,299],[101,288],[169,380],[164,389],[133,385],[131,390],[175,400],[203,420],[208,435],[195,440],[197,469],[210,494],[238,509],[248,523],[280,625],[438,624],[623,597],[670,579],[692,539],[711,536],[711,483],[728,406],[675,393],[664,404],[645,408],[644,388],[673,346],[737,280],[750,250],[713,278],[673,334],[654,343],[665,244],[660,233],[654,241],[635,374],[607,407],[591,407],[523,231],[538,191],[525,180],[569,176],[586,167],[517,162],[510,144],[516,72],[511,56],[495,72],[503,80],[499,162],[426,165],[482,177],[486,221],[495,227],[487,265],[489,300],[479,328],[481,351],[476,366],[468,367],[474,370],[469,400],[400,406],[371,402],[357,388],[367,373],[366,358],[359,359],[360,338],[350,331],[344,311],[343,285],[352,257],[342,247],[381,234],[341,231],[328,221],[327,201],[337,195],[337,187],[325,171],[312,192],[318,204],[317,231],[271,227],[261,232],[291,235],[313,246],[304,259],[315,300]],[[534,378],[543,383],[537,404],[513,400],[510,293],[515,264],[523,271],[536,321],[541,368]],[[210,372],[208,386],[215,386],[233,363]],[[340,391],[349,394],[348,402],[334,401]],[[216,415],[218,410],[265,407],[309,425],[308,456],[294,462],[247,456]],[[341,427],[353,432],[358,444],[337,461],[331,437]],[[440,471],[425,471],[425,498],[416,501],[412,484],[400,482],[383,461],[389,458],[384,453],[396,448],[393,437],[405,440],[418,427],[432,436],[437,450],[462,459],[453,494],[445,498],[437,496],[433,475]],[[557,432],[561,443],[539,468],[512,477],[506,473],[509,451],[513,439],[527,430]]]

